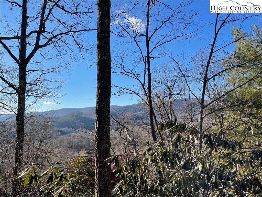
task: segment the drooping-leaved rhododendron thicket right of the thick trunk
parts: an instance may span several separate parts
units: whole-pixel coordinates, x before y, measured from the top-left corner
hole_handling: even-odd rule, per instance
[[[159,129],[174,132],[168,149],[162,142],[149,146],[141,157],[119,163],[114,192],[119,196],[262,196],[262,151],[242,149],[236,140],[205,134],[205,151],[197,153],[195,126],[170,123]]]

